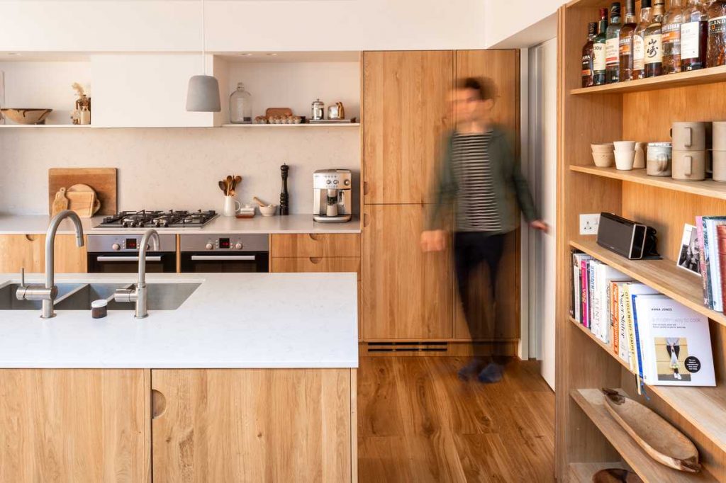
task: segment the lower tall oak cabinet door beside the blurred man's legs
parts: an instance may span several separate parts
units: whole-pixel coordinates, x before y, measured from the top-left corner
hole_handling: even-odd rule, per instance
[[[427,212],[425,205],[364,209],[366,340],[453,337],[451,252],[421,252],[419,237]]]

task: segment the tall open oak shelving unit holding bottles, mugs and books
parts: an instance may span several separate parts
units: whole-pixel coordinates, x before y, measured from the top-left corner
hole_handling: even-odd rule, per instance
[[[587,22],[609,0],[573,0],[558,12],[557,476],[589,481],[600,468],[627,463],[648,482],[726,481],[726,315],[703,305],[701,278],[674,263],[685,223],[726,215],[726,184],[651,177],[645,170],[592,165],[590,144],[667,141],[672,123],[726,119],[726,67],[581,86]],[[614,212],[658,231],[662,260],[627,260],[579,234],[579,215]],[[608,344],[571,318],[571,250],[586,252],[709,318],[717,387],[646,388],[638,397],[698,447],[703,471],[685,474],[653,461],[609,416],[602,387],[635,395],[635,375]]]

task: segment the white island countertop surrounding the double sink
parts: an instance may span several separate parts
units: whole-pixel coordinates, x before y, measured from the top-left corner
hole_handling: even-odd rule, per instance
[[[132,274],[64,274],[56,284],[133,283]],[[2,287],[17,276],[0,274]],[[28,283],[41,283],[30,274]],[[201,282],[177,310],[0,310],[0,368],[355,368],[355,273],[150,273]],[[326,297],[325,294],[332,294]],[[12,294],[14,297],[15,294]]]

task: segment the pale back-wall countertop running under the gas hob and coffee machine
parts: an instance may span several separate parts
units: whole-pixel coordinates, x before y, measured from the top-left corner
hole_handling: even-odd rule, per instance
[[[85,234],[143,234],[144,229],[95,228],[103,217],[84,218]],[[0,235],[35,235],[48,230],[50,217],[47,215],[0,215]],[[348,223],[316,223],[313,215],[287,215],[238,220],[234,217],[218,216],[204,228],[157,228],[159,233],[225,233],[225,234],[296,234],[296,233],[360,233],[360,218],[355,216]],[[63,220],[59,234],[73,233],[73,224]]]

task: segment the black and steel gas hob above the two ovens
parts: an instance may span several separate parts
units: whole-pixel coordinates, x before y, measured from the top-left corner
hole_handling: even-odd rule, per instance
[[[122,211],[103,218],[96,228],[202,228],[217,217],[208,211]]]

